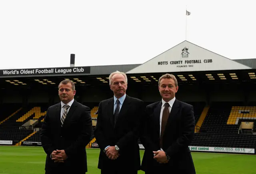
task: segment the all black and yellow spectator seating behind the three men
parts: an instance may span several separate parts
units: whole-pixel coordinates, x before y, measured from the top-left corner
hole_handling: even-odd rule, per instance
[[[194,115],[196,123],[202,115],[206,103],[205,102],[188,102],[194,107]],[[22,140],[27,142],[40,142],[40,130],[34,132],[33,129],[24,129],[22,125],[30,119],[39,119],[38,124],[34,128],[42,127],[42,120],[48,108],[48,104],[30,104],[23,107],[18,112],[19,105],[12,107],[2,106],[2,120],[8,117],[8,114],[14,113],[12,117],[0,124],[0,140],[13,140],[19,143]],[[12,109],[10,109],[12,108]],[[93,121],[96,121],[98,107],[91,107],[91,115]],[[236,147],[236,148],[256,148],[256,135],[247,134],[246,132],[238,134],[242,119],[236,120],[240,114],[252,116],[252,119],[242,117],[247,121],[253,121],[253,130],[256,130],[255,106],[244,106],[242,102],[215,102],[211,103],[208,113],[203,120],[200,132],[195,133],[194,139],[190,146],[216,146],[216,147]],[[240,111],[241,110],[241,111]],[[250,110],[250,112],[248,111]],[[241,113],[242,112],[242,113]],[[249,113],[243,113],[249,112]],[[247,114],[247,115],[246,115]],[[234,119],[235,116],[235,119]],[[92,131],[92,140],[90,144],[97,143],[94,137],[94,129]],[[138,143],[141,144],[140,140]],[[91,147],[88,145],[88,147]]]

